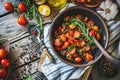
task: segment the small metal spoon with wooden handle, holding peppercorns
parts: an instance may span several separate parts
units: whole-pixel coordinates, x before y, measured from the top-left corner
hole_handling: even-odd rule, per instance
[[[49,57],[50,61],[52,63],[55,63],[55,60],[53,58],[53,56],[49,53],[48,48],[45,46],[44,42],[40,39],[41,38],[41,32],[39,30],[39,28],[36,25],[30,25],[28,28],[28,32],[30,33],[30,35],[33,38],[36,38],[38,40],[39,43],[42,43],[44,46],[44,52],[47,54],[47,56]]]

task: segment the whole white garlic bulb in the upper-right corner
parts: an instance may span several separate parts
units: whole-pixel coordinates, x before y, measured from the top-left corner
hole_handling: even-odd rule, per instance
[[[114,19],[118,13],[118,7],[116,3],[111,0],[102,1],[97,12],[106,20]]]

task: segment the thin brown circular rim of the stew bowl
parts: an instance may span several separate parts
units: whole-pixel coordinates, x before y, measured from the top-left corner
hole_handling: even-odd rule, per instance
[[[61,16],[62,14],[64,14],[65,12],[69,11],[69,10],[72,10],[72,9],[84,9],[84,10],[87,10],[87,11],[90,11],[91,13],[93,13],[94,15],[96,15],[100,21],[102,22],[102,24],[104,25],[104,29],[105,29],[105,33],[106,33],[106,42],[105,42],[105,45],[104,45],[104,48],[106,49],[107,46],[108,46],[108,41],[109,41],[109,31],[108,31],[108,27],[106,25],[106,23],[104,22],[103,18],[98,15],[95,11],[91,10],[91,9],[88,9],[88,8],[85,8],[85,7],[79,7],[79,6],[73,6],[73,7],[69,7],[68,9],[66,10],[63,10],[62,12],[60,12],[56,17],[55,19],[53,20],[52,22],[52,25],[50,26],[50,34],[49,34],[49,40],[50,40],[50,46],[51,46],[51,49],[53,50],[54,54],[61,60],[63,61],[64,63],[68,64],[68,65],[71,65],[71,66],[75,66],[75,67],[85,67],[85,66],[89,66],[89,65],[92,65],[93,63],[97,62],[101,57],[102,57],[102,53],[100,53],[100,55],[94,59],[93,61],[90,61],[88,62],[87,64],[72,64],[64,59],[62,59],[56,52],[56,50],[54,49],[54,46],[53,46],[53,43],[52,43],[52,27],[54,26],[54,22],[56,21],[56,19],[58,19],[59,16]]]

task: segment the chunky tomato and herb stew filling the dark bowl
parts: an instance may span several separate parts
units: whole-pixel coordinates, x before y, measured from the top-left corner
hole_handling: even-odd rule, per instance
[[[96,47],[93,37],[101,40],[101,29],[88,16],[67,15],[56,28],[53,40],[59,54],[75,63],[88,63]]]

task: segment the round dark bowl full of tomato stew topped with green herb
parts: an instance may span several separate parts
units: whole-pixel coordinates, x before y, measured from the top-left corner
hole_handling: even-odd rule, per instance
[[[50,28],[50,45],[66,64],[82,67],[98,61],[102,54],[94,44],[96,37],[106,48],[108,29],[103,19],[84,7],[70,7],[56,16]]]

